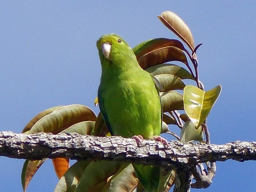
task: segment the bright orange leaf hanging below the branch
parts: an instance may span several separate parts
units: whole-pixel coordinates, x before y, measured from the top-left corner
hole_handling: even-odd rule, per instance
[[[53,158],[52,164],[55,170],[55,173],[59,179],[66,173],[69,168],[69,158]]]

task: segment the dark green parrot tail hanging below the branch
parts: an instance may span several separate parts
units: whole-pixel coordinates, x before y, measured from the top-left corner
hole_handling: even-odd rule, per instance
[[[136,176],[146,192],[158,192],[160,167],[133,164]]]

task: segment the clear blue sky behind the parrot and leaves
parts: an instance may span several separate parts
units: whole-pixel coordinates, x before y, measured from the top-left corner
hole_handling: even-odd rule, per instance
[[[212,143],[256,141],[256,3],[249,0],[1,1],[0,131],[21,132],[34,115],[57,105],[79,103],[98,113],[96,40],[114,32],[134,47],[176,38],[157,19],[166,10],[188,24],[195,44],[203,43],[197,56],[206,90],[222,85],[208,118]],[[23,162],[0,157],[0,191],[22,191]],[[218,162],[204,191],[255,191],[255,178],[256,162]],[[57,182],[49,160],[27,191],[53,191]]]

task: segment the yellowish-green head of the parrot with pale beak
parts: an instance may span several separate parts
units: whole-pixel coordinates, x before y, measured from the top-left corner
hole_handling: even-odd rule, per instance
[[[120,64],[126,59],[136,59],[133,50],[117,34],[103,35],[96,45],[99,51],[99,58],[104,61],[103,63]]]

